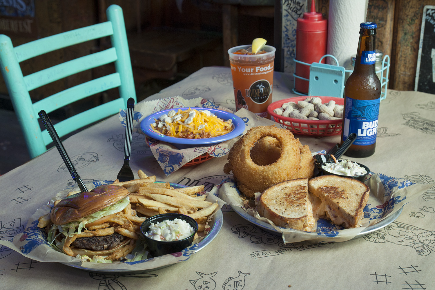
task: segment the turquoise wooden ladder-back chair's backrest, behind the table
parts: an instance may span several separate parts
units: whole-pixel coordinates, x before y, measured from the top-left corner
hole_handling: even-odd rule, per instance
[[[23,130],[31,158],[45,152],[47,144],[52,142],[47,130],[41,131],[40,129],[38,122],[38,112],[40,110],[49,113],[77,100],[118,87],[118,99],[103,103],[55,124],[54,127],[58,135],[62,137],[88,124],[119,113],[120,109],[127,107],[129,97],[134,98],[136,101],[122,8],[118,5],[111,5],[107,8],[106,13],[107,22],[59,33],[17,47],[13,47],[9,37],[3,34],[0,35],[1,73]],[[90,53],[23,76],[20,62],[24,60],[77,43],[107,36],[110,36],[112,43],[112,47],[107,50]],[[31,90],[107,63],[115,64],[115,73],[70,87],[35,103],[30,99],[29,91]]]

